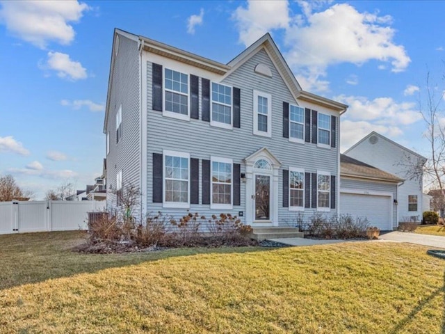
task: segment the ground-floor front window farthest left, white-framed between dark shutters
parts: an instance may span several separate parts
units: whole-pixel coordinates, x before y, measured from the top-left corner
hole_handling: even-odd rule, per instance
[[[190,154],[163,151],[164,207],[190,207]]]

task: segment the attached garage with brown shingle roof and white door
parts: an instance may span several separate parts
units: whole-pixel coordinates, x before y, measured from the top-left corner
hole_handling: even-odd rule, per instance
[[[345,154],[340,157],[340,213],[366,217],[371,226],[398,226],[398,184],[403,179]]]

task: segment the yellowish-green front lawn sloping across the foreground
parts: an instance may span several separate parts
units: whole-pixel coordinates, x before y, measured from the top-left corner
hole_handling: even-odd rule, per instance
[[[445,261],[422,246],[82,255],[79,237],[0,236],[0,333],[445,333]]]

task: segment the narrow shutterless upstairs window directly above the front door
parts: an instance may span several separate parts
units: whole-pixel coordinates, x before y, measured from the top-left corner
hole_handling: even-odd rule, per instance
[[[253,134],[272,136],[272,95],[253,91]]]

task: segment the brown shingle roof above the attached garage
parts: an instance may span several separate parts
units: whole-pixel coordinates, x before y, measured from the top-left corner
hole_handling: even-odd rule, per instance
[[[359,177],[369,180],[403,182],[403,179],[362,161],[340,154],[340,176]]]

